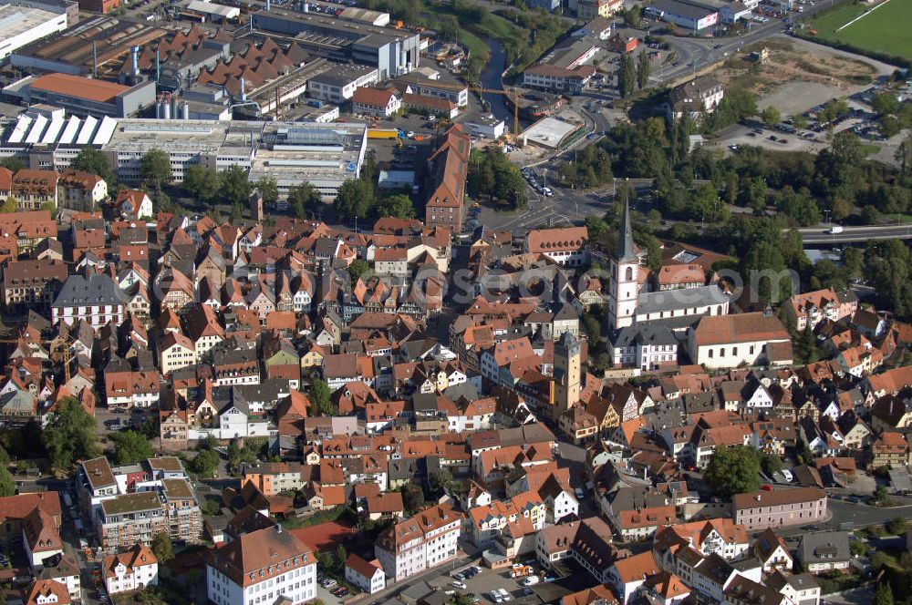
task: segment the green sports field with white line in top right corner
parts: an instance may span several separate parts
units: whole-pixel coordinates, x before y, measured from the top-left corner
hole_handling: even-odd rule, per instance
[[[817,30],[817,37],[850,44],[861,49],[902,56],[912,59],[912,1],[889,0],[886,5],[878,7],[873,13],[845,27],[840,32],[835,30],[862,15],[870,9],[854,0],[847,0],[844,5],[832,11],[826,11],[814,17],[810,27]]]

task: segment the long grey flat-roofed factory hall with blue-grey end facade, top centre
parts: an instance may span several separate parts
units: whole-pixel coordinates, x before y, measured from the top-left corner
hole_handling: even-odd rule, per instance
[[[406,74],[419,66],[420,35],[374,26],[344,15],[276,10],[253,15],[254,27],[295,36],[298,44],[326,56],[341,56],[377,67],[381,80]]]

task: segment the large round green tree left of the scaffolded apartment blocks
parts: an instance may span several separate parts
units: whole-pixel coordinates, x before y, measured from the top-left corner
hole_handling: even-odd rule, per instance
[[[76,398],[60,400],[57,413],[42,433],[51,466],[66,471],[78,460],[100,456],[95,428],[95,418],[88,415]]]

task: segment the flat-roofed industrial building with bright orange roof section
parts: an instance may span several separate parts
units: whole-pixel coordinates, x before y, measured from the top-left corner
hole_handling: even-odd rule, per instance
[[[155,82],[130,87],[72,74],[45,74],[5,87],[4,94],[24,105],[47,103],[78,116],[128,118],[155,104]]]

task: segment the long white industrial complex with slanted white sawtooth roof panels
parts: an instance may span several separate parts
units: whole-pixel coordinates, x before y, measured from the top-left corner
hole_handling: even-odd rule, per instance
[[[176,111],[189,113],[182,106]],[[328,201],[346,179],[360,174],[368,127],[356,122],[97,119],[30,111],[3,124],[0,158],[16,156],[29,167],[62,170],[87,146],[107,154],[124,183],[139,182],[140,159],[161,149],[171,157],[176,181],[195,164],[216,170],[238,165],[250,170],[251,180],[274,176],[280,195],[306,180]]]

